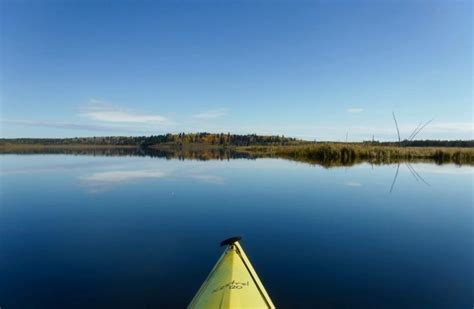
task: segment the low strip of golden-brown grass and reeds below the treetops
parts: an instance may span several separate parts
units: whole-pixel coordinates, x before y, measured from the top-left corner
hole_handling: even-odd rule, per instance
[[[285,146],[226,146],[205,143],[163,143],[147,146],[93,145],[93,144],[0,144],[0,153],[71,153],[108,155],[153,155],[153,152],[175,153],[184,159],[202,157],[230,157],[245,154],[249,157],[276,157],[324,166],[347,166],[360,162],[375,164],[402,161],[428,161],[438,164],[455,163],[474,165],[474,148],[457,147],[396,147],[368,143],[302,143]],[[189,154],[189,155],[188,155]],[[190,155],[192,154],[192,155]]]

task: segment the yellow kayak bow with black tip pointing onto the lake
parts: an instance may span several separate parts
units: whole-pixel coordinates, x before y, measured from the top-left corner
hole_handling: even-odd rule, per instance
[[[226,250],[211,270],[188,309],[275,308],[247,255],[241,237],[224,240]]]

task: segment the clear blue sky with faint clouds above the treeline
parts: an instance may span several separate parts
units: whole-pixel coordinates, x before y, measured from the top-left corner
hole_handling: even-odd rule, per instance
[[[473,138],[470,1],[1,1],[1,136]]]

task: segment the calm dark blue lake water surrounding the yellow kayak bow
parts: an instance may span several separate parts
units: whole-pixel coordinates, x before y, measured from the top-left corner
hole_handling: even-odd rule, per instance
[[[234,235],[278,308],[474,306],[473,167],[0,160],[2,309],[184,308]]]

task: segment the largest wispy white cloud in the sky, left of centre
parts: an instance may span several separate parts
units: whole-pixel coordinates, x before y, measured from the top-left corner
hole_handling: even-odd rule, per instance
[[[110,123],[158,125],[171,123],[168,118],[162,115],[137,113],[133,110],[95,99],[90,100],[89,104],[82,107],[79,115],[90,120]]]

